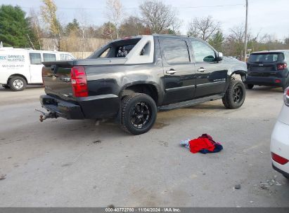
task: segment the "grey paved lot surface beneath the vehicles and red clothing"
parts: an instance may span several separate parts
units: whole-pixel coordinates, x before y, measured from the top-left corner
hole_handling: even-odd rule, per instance
[[[281,88],[160,112],[133,136],[112,122],[39,122],[43,88],[0,88],[0,207],[289,207],[289,181],[271,168]],[[208,133],[220,153],[190,153],[181,139]],[[240,189],[234,186],[240,184]]]

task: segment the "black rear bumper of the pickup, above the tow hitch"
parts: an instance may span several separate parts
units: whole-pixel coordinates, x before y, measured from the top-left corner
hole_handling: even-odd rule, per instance
[[[111,118],[117,115],[120,101],[117,95],[79,97],[76,103],[67,102],[50,95],[40,96],[41,106],[66,119]]]

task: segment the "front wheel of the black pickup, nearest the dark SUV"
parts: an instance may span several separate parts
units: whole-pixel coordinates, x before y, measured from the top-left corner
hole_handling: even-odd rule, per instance
[[[238,109],[243,105],[245,97],[246,90],[244,83],[242,81],[231,79],[222,101],[227,109]]]

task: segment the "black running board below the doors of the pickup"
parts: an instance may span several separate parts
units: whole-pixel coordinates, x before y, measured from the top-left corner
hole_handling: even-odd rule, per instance
[[[208,102],[208,101],[214,101],[216,99],[221,99],[224,97],[225,94],[219,94],[219,95],[211,95],[207,97],[200,97],[198,99],[193,99],[185,102],[179,102],[175,104],[169,104],[165,106],[158,107],[159,111],[167,111],[171,109],[178,109],[178,108],[184,108],[184,107],[191,107],[196,104],[201,104],[203,102]]]

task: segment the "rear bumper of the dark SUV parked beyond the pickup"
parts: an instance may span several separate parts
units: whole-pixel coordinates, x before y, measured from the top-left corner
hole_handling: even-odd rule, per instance
[[[278,78],[276,76],[247,76],[245,83],[253,85],[283,86],[287,81],[287,78]]]

